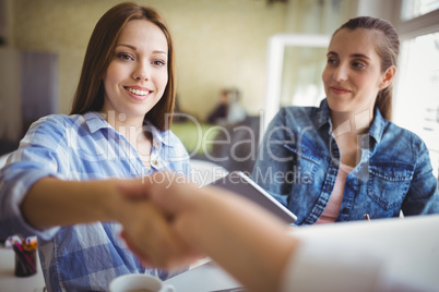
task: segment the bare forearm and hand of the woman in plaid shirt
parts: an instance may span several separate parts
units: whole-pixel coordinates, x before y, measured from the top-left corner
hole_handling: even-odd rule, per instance
[[[141,180],[126,184],[142,185]],[[25,220],[36,229],[66,227],[97,221],[118,221],[134,251],[147,251],[143,261],[166,268],[168,258],[187,255],[166,218],[150,202],[132,200],[120,194],[121,181],[37,181],[21,205]],[[191,258],[191,256],[187,256]],[[186,259],[185,260],[189,260]]]

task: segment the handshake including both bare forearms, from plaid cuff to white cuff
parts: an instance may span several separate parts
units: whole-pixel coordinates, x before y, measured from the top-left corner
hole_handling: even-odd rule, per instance
[[[135,180],[44,178],[21,211],[39,230],[117,221],[143,265],[177,269],[209,256],[251,291],[276,291],[297,245],[285,223],[256,203],[168,172]]]

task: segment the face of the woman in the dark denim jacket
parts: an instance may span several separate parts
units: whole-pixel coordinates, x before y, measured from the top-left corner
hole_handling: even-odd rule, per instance
[[[387,85],[376,52],[378,34],[365,28],[343,28],[333,36],[322,74],[333,112],[355,114],[373,109],[378,92]]]

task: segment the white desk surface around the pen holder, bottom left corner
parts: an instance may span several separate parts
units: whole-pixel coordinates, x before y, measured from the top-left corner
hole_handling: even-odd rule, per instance
[[[0,248],[0,291],[1,292],[43,292],[46,287],[37,256],[37,273],[29,277],[15,277],[15,253]]]

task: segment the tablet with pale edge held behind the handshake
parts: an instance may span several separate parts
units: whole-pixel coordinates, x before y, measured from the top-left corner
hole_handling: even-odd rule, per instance
[[[277,216],[286,224],[297,221],[296,215],[278,203],[261,186],[241,171],[233,171],[210,185],[217,186],[246,197]]]

